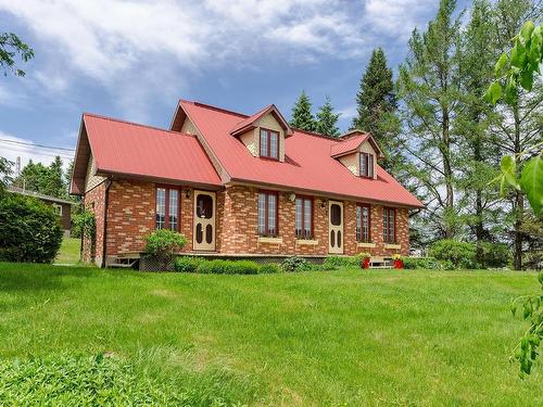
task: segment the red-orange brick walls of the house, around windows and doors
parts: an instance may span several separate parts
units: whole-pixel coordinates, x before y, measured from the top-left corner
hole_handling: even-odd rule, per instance
[[[96,216],[97,236],[94,254],[91,242],[84,239],[84,260],[96,257],[101,265],[103,258],[103,239],[105,236],[105,255],[141,252],[144,237],[155,227],[155,191],[151,182],[134,180],[114,180],[108,188],[104,181],[85,195],[84,204]],[[108,188],[108,192],[106,191]],[[180,232],[188,239],[185,249],[192,252],[193,199],[191,188],[179,189]],[[257,193],[258,189],[247,186],[229,186],[216,192],[216,253],[225,255],[328,255],[328,198],[313,196],[314,239],[300,241],[295,237],[295,203],[289,199],[291,192],[278,192],[278,228],[280,241],[266,242],[257,232]],[[104,203],[108,194],[106,221],[104,222]],[[387,247],[382,238],[382,206],[371,205],[371,241],[375,247],[361,246],[356,242],[356,203],[343,201],[343,245],[344,254],[354,255],[369,252],[375,256],[390,256],[394,253],[408,255],[409,230],[408,211],[396,208],[396,243]],[[105,229],[104,229],[105,225]],[[305,243],[305,244],[304,244]]]

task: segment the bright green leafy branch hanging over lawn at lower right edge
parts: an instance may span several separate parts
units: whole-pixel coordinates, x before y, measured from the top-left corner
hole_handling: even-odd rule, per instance
[[[543,291],[543,272],[539,275],[539,282]],[[514,352],[515,359],[520,365],[520,377],[530,374],[533,361],[539,355],[539,345],[543,341],[543,295],[523,295],[512,302],[512,313],[522,313],[522,318],[530,322],[520,343]]]

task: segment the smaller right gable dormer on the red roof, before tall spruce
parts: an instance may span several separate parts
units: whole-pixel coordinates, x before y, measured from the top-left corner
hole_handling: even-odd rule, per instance
[[[377,160],[383,154],[370,133],[353,130],[330,148],[330,156],[357,177],[377,179]]]

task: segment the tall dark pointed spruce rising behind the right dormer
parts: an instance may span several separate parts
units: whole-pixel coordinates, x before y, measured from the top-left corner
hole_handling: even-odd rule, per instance
[[[371,52],[371,59],[364,73],[356,93],[357,116],[351,129],[370,132],[384,153],[381,166],[388,170],[394,167],[397,154],[399,120],[397,101],[392,80],[392,69],[387,66],[387,56],[381,48]]]

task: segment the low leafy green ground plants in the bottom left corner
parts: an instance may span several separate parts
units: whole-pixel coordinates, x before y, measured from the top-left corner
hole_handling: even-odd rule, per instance
[[[5,406],[227,405],[104,354],[0,360],[0,404]]]

